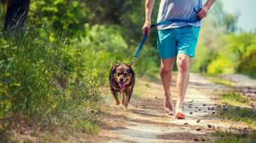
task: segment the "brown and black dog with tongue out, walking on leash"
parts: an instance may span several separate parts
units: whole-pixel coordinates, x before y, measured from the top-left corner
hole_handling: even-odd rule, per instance
[[[123,95],[122,104],[125,106],[124,111],[128,111],[128,103],[133,93],[135,84],[135,73],[131,64],[114,64],[109,74],[109,85],[112,95],[114,96],[114,105],[119,105],[118,93]]]

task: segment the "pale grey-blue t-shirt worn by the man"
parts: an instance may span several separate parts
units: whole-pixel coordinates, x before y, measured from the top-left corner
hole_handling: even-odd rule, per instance
[[[202,0],[161,0],[157,22],[168,19],[197,19],[197,13],[193,10],[194,6],[201,7]],[[169,28],[180,28],[187,25],[201,27],[202,22],[200,20],[195,23],[166,23],[162,26],[158,26],[157,29],[166,30]]]

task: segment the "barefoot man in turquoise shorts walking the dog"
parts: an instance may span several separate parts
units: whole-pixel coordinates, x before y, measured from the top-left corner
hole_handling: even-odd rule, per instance
[[[199,19],[193,23],[174,22],[158,26],[158,53],[161,56],[160,77],[165,92],[165,109],[169,115],[177,119],[185,119],[183,101],[189,83],[189,64],[195,54],[197,38],[201,28],[201,20],[207,15],[215,0],[207,0],[202,6],[202,0],[161,0],[158,11],[158,22],[168,19]],[[146,19],[142,28],[143,34],[150,35],[151,13],[154,0],[146,0]],[[201,7],[195,11],[194,7]],[[177,104],[174,109],[170,82],[174,57],[177,56]]]

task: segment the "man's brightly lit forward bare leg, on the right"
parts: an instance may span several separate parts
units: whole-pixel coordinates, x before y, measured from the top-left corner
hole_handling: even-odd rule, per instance
[[[183,101],[189,83],[189,64],[191,57],[187,54],[177,55],[178,77],[177,77],[177,104],[175,107],[175,117],[185,119],[183,113]]]

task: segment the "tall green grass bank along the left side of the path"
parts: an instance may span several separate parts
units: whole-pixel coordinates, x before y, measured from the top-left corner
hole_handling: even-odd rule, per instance
[[[0,36],[0,141],[21,122],[45,130],[96,130],[98,80],[85,46],[56,36],[46,24],[1,30]]]

